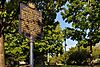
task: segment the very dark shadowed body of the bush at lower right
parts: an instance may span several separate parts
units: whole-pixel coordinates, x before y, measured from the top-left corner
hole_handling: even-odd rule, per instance
[[[87,62],[87,59],[90,57],[89,52],[85,50],[75,51],[69,56],[67,60],[68,64],[84,64]]]

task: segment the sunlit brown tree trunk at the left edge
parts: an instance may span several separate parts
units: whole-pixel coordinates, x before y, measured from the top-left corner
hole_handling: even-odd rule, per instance
[[[3,35],[0,34],[0,67],[5,67]]]

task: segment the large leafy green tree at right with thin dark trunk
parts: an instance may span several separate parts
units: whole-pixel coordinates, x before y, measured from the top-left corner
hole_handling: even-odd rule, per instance
[[[92,46],[100,40],[100,1],[68,0],[67,3],[62,16],[67,23],[72,24],[72,28],[67,28],[68,38],[77,40],[84,47],[90,46],[92,65]]]

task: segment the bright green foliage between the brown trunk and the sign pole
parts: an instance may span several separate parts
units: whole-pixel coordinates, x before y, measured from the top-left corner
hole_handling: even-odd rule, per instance
[[[15,26],[8,26],[4,30],[4,45],[6,63],[11,61],[26,61],[29,54],[28,39],[18,33],[18,21],[14,21]]]

